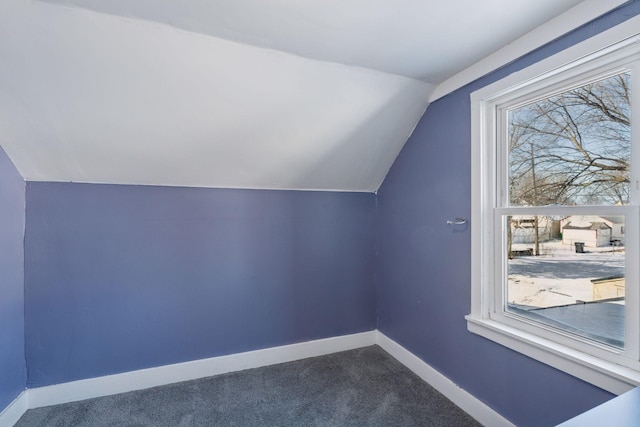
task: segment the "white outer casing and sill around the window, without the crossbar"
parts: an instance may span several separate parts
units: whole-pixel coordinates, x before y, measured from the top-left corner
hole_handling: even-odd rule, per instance
[[[494,221],[494,209],[500,206],[497,203],[496,188],[492,187],[497,182],[498,166],[496,164],[498,148],[495,143],[497,131],[495,105],[498,99],[504,102],[505,99],[509,99],[509,96],[515,98],[516,92],[517,96],[521,96],[523,89],[528,93],[534,93],[537,88],[547,87],[549,79],[557,79],[556,83],[560,84],[567,79],[581,76],[584,69],[580,68],[585,64],[588,64],[592,70],[602,65],[613,69],[617,65],[622,67],[625,62],[628,64],[630,56],[640,58],[640,32],[637,30],[639,25],[640,16],[631,18],[623,24],[471,94],[472,292],[471,312],[466,316],[468,330],[615,394],[640,385],[640,369],[635,369],[640,364],[630,368],[607,361],[580,351],[579,346],[575,348],[534,335],[514,327],[512,323],[503,323],[490,316],[494,304],[493,289],[490,284],[494,282],[493,266],[495,265],[491,258],[493,258],[496,237],[493,235],[494,226],[491,222]],[[617,64],[618,62],[620,64]],[[640,74],[637,71],[638,67],[632,71],[636,79]],[[634,91],[632,96],[632,103],[635,106],[632,109],[632,120],[634,123],[640,123],[640,120],[637,120],[640,117],[640,107],[638,107],[640,102],[635,102],[640,99],[640,90]],[[637,136],[632,137],[637,138]],[[639,149],[632,150],[632,164],[640,165],[639,152]],[[638,169],[640,168],[632,171],[632,174],[637,174]],[[632,185],[640,183],[639,178],[637,175],[632,175]],[[632,198],[633,205],[637,206],[638,202]],[[589,209],[597,210],[598,207]],[[630,209],[635,209],[637,212],[638,208],[631,206]],[[487,224],[490,225],[487,226]],[[638,228],[637,225],[625,222],[627,228],[629,225]],[[629,248],[628,251],[639,253],[638,244],[636,242],[635,248]],[[627,255],[626,268],[637,269],[636,266],[636,262],[629,262],[629,255]],[[637,294],[637,287],[635,288],[632,292]],[[639,295],[634,295],[636,300],[638,297]],[[638,325],[637,330],[640,334],[640,312],[632,313],[630,319]],[[633,352],[631,354],[635,357]]]

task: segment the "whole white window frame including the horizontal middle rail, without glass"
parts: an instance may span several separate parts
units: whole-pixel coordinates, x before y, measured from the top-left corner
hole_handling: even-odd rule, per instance
[[[640,385],[640,17],[577,44],[471,94],[472,296],[470,332],[523,353],[600,388],[620,394]],[[557,93],[589,79],[632,73],[631,203],[625,207],[506,207],[498,178],[506,174],[499,123],[523,99]],[[499,170],[503,168],[503,170]],[[517,212],[517,213],[514,213]],[[589,213],[625,216],[625,349],[564,334],[505,312],[503,226],[509,215]],[[634,237],[632,237],[634,236]]]

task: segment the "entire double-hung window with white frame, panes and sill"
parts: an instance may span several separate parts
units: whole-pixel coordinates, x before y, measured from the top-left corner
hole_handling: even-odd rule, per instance
[[[467,320],[621,393],[640,385],[640,43],[610,37],[472,94]]]

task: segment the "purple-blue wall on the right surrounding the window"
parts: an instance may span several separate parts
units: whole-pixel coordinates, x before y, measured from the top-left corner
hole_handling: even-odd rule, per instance
[[[519,426],[555,425],[612,396],[467,331],[473,90],[640,12],[635,1],[434,103],[378,198],[378,329]]]

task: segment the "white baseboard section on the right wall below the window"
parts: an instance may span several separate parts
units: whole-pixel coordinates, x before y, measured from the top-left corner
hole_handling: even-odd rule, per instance
[[[514,425],[502,415],[482,403],[449,378],[429,366],[422,359],[402,347],[380,331],[376,331],[376,344],[382,347],[396,360],[409,368],[413,373],[429,383],[433,388],[462,408],[480,424],[492,427],[513,427]]]

